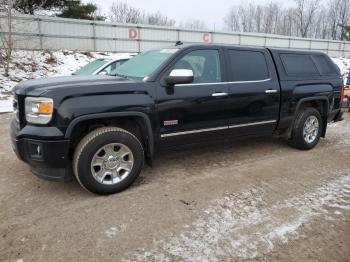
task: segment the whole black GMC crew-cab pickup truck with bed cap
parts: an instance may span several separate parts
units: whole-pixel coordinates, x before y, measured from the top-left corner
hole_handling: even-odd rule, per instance
[[[274,135],[311,149],[342,120],[341,92],[324,53],[175,45],[134,57],[115,76],[20,83],[11,137],[35,175],[74,173],[87,190],[111,194],[161,146]]]

